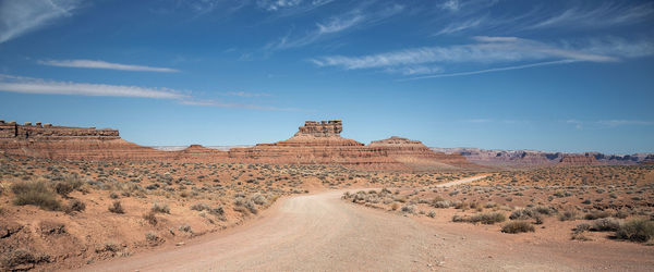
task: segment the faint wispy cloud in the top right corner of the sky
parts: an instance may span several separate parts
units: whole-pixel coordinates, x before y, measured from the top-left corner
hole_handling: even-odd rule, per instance
[[[641,4],[632,4],[630,1],[603,2],[592,8],[577,5],[566,9],[528,28],[614,26],[652,20],[653,14],[654,3],[652,2]]]

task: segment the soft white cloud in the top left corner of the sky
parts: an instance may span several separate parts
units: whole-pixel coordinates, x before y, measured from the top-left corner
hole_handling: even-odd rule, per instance
[[[0,44],[72,15],[77,0],[0,1]]]

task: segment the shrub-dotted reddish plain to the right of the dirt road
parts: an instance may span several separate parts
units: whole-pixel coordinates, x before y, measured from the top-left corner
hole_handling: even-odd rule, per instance
[[[440,183],[407,181],[342,198],[403,215],[497,224],[494,230],[506,234],[555,227],[572,240],[654,244],[653,166],[547,168],[492,173],[446,188]],[[564,228],[566,222],[582,223]]]

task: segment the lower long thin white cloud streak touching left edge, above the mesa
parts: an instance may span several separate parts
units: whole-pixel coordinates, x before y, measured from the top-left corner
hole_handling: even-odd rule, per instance
[[[56,82],[1,74],[0,91],[41,95],[141,97],[160,99],[184,99],[187,97],[179,91],[168,88],[144,88],[128,85]]]

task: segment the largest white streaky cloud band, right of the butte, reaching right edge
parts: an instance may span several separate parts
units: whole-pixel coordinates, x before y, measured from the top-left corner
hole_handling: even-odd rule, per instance
[[[654,54],[654,42],[645,40],[627,41],[610,38],[584,42],[566,41],[561,42],[562,45],[545,44],[518,37],[476,36],[473,37],[473,40],[476,42],[448,47],[411,48],[360,57],[328,55],[311,59],[310,61],[317,66],[337,66],[344,70],[385,69],[391,71],[399,71],[421,64],[436,64],[439,67],[447,69],[447,65],[456,63],[483,65],[514,63],[514,65],[510,66],[450,72],[447,74],[411,78],[419,79],[472,75],[572,62],[616,62],[625,58]],[[537,62],[533,63],[534,61]]]

